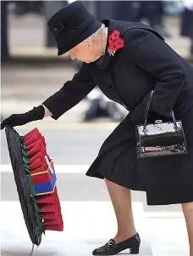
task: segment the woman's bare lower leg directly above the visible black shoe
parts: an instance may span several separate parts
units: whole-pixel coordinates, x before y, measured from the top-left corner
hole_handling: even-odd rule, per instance
[[[116,243],[122,242],[136,234],[130,190],[105,179],[118,223],[118,232],[114,237]]]

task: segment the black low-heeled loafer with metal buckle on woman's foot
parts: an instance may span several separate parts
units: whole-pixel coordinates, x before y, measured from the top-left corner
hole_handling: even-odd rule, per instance
[[[140,243],[141,239],[138,233],[119,243],[115,243],[114,240],[111,239],[104,246],[96,248],[92,252],[92,255],[115,255],[125,249],[130,249],[130,254],[138,254],[140,251]]]

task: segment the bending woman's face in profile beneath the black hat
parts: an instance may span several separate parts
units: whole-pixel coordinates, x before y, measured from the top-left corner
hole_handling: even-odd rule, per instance
[[[99,58],[96,49],[91,47],[91,42],[85,41],[69,51],[72,60],[77,59],[85,63],[91,63]]]

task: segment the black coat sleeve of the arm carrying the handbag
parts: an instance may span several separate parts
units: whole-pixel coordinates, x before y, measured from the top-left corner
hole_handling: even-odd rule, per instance
[[[152,31],[130,30],[125,34],[125,41],[126,58],[155,78],[152,111],[169,117],[185,84],[185,67],[179,56]]]

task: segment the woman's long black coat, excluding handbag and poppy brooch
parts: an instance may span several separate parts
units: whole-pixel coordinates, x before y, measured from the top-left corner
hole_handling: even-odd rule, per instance
[[[114,56],[106,50],[102,60],[83,64],[72,81],[43,104],[58,119],[97,85],[130,113],[103,143],[86,175],[146,191],[149,205],[193,202],[193,68],[150,27],[104,22],[108,34],[120,31],[124,48]],[[136,159],[135,125],[143,122],[152,88],[155,94],[149,120],[168,120],[173,110],[184,124],[187,155]]]

